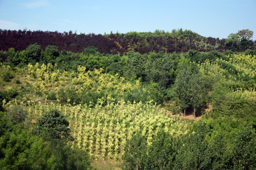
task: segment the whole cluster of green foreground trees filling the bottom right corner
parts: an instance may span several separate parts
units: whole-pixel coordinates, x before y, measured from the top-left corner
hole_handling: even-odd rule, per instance
[[[255,129],[242,127],[229,144],[226,134],[213,133],[212,125],[200,121],[190,133],[177,137],[161,130],[149,146],[137,132],[125,146],[123,170],[254,170]]]

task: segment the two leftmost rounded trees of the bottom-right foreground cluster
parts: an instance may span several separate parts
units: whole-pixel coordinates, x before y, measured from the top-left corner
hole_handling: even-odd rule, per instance
[[[171,170],[174,167],[174,143],[169,133],[160,130],[150,146],[137,132],[125,146],[123,170]]]

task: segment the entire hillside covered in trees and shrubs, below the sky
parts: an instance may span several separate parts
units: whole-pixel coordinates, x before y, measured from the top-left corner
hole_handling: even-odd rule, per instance
[[[254,170],[256,43],[0,30],[4,170]]]

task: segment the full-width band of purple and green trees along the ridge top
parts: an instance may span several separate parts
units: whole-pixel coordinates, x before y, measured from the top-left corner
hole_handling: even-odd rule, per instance
[[[76,32],[58,31],[30,31],[30,30],[1,30],[0,50],[7,51],[14,48],[22,51],[28,45],[37,43],[42,50],[47,45],[55,45],[59,50],[82,52],[88,46],[94,46],[101,53],[126,53],[131,49],[141,54],[151,51],[165,51],[167,53],[187,52],[191,49],[208,52],[216,51],[245,51],[254,49],[256,42],[248,40],[240,44],[227,43],[226,39],[203,37],[191,30],[174,29],[171,33],[155,30],[154,33],[129,32],[127,34],[77,34]]]

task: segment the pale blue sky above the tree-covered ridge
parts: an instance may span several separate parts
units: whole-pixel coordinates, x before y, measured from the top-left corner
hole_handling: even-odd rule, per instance
[[[256,0],[0,0],[0,29],[109,34],[183,28],[227,38],[249,29]]]

